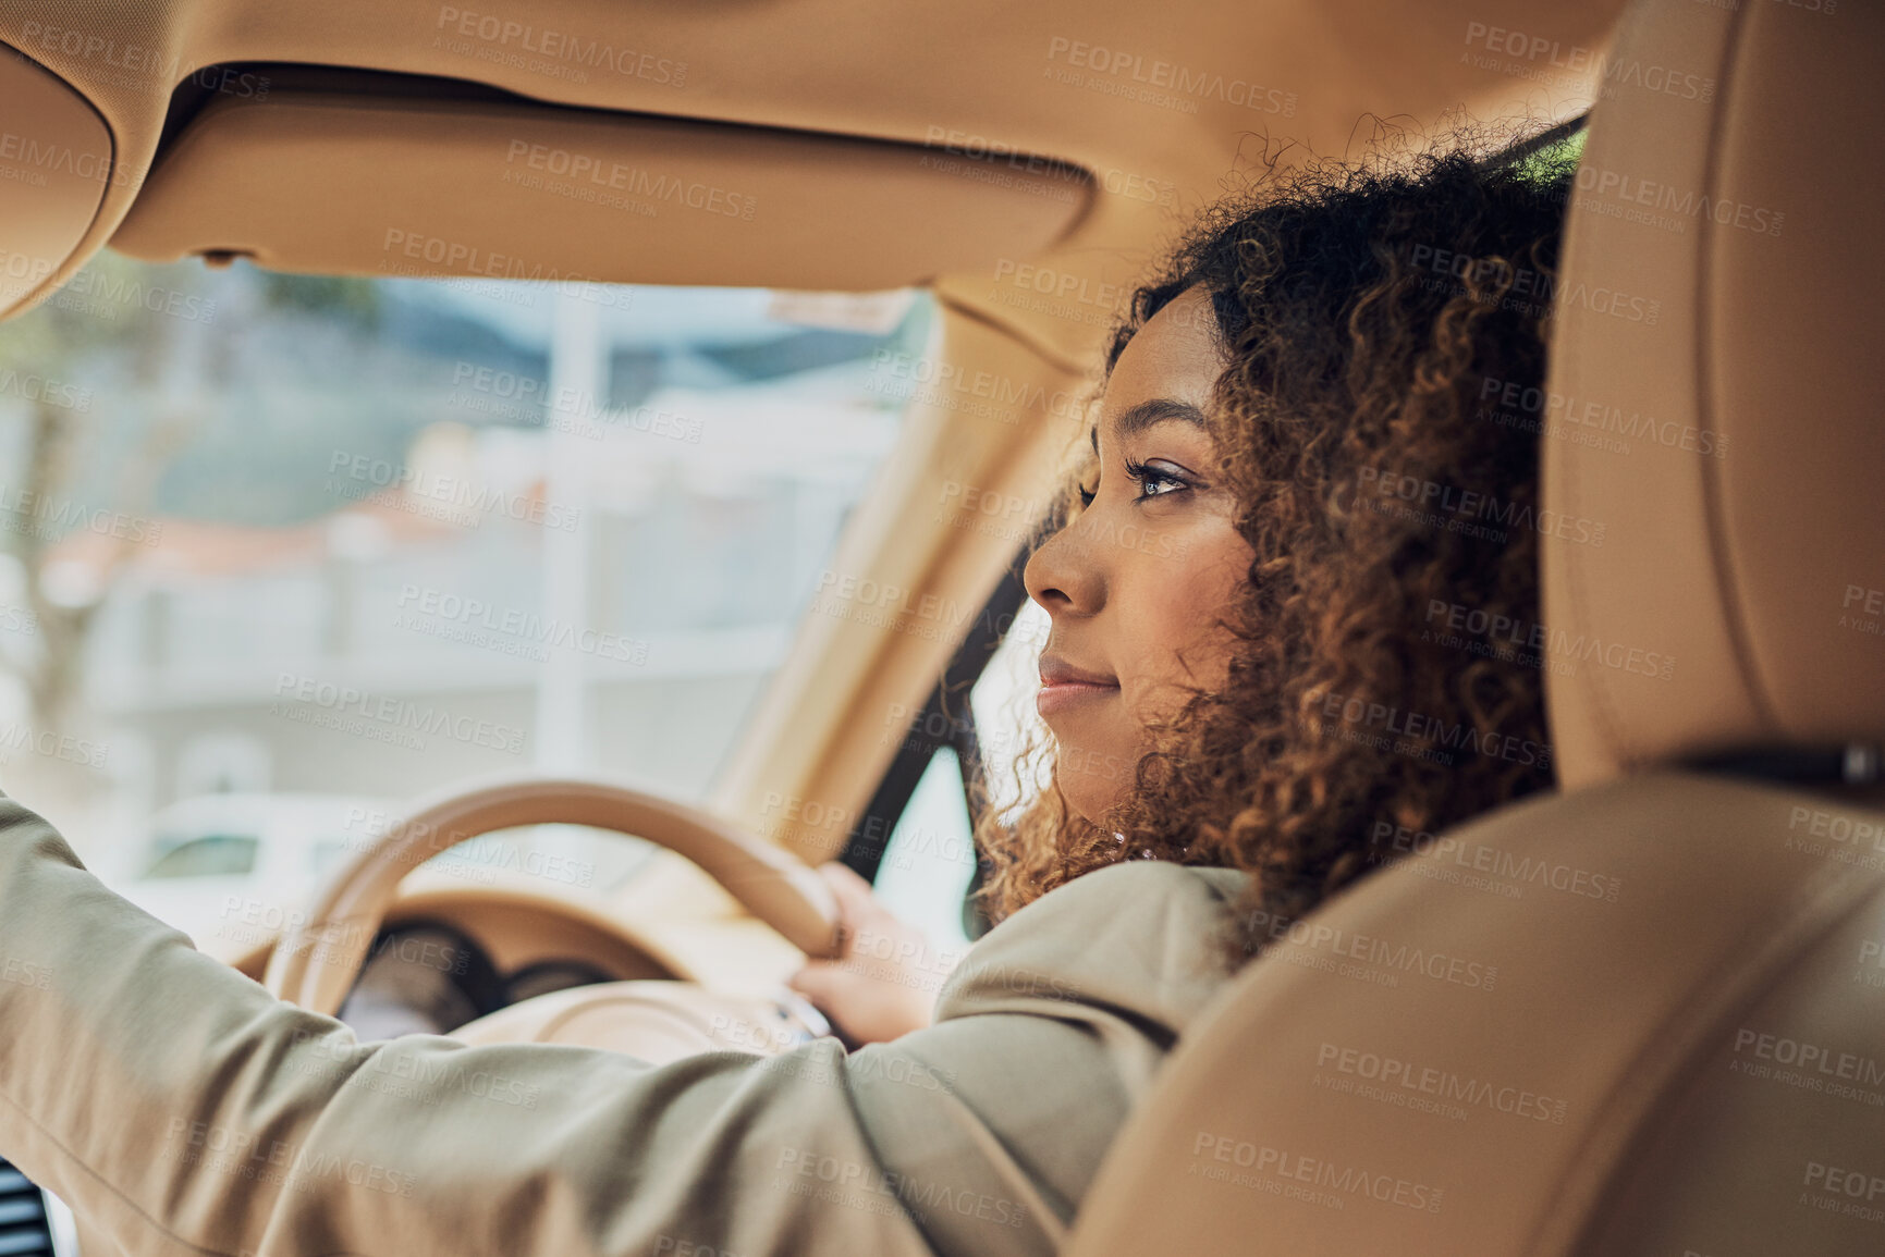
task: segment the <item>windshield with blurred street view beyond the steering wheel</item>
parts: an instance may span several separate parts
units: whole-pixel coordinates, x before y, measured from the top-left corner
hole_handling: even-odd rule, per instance
[[[918,292],[100,256],[0,326],[36,381],[0,390],[0,722],[43,752],[9,788],[57,776],[74,829],[516,771],[701,801],[931,326]]]

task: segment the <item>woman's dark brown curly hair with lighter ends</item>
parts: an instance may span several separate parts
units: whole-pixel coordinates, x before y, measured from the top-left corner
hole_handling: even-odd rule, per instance
[[[1106,373],[1203,286],[1218,475],[1254,550],[1229,682],[1148,729],[1088,824],[1050,780],[984,814],[1005,916],[1125,857],[1248,871],[1237,955],[1433,835],[1551,784],[1538,507],[1570,145],[1320,162],[1212,209],[1131,302]],[[1123,839],[1123,841],[1122,841]]]

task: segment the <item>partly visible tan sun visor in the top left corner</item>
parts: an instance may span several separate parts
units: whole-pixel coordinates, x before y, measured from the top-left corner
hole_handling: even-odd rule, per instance
[[[0,45],[0,315],[72,258],[111,181],[111,132],[66,83]]]

